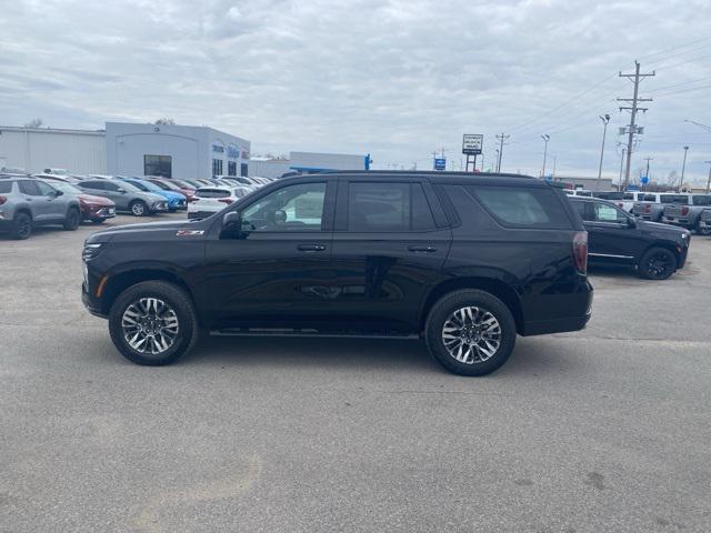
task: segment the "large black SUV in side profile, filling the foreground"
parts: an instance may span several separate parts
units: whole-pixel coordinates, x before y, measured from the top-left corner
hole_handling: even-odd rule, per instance
[[[421,335],[450,371],[482,375],[517,333],[585,326],[587,239],[533,178],[307,174],[201,221],[92,234],[83,301],[140,364],[174,361],[199,330]]]

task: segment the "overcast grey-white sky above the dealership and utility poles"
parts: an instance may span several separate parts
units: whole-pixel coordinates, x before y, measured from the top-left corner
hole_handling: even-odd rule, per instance
[[[0,123],[52,128],[170,117],[290,150],[372,154],[431,168],[461,134],[510,134],[504,171],[597,175],[598,115],[611,115],[603,172],[617,179],[618,71],[657,71],[633,170],[705,182],[711,133],[708,0],[0,0]]]

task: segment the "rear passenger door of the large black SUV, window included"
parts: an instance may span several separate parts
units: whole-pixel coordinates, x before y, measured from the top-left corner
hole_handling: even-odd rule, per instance
[[[437,203],[435,203],[437,202]],[[352,177],[339,185],[332,261],[334,320],[412,331],[451,231],[427,180]]]

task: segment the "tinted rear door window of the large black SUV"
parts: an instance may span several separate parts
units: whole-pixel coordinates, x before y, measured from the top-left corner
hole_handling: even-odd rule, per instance
[[[420,183],[352,182],[348,193],[348,230],[407,232],[434,229]]]

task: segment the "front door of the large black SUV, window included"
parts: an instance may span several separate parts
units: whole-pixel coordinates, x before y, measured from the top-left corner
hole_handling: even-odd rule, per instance
[[[289,183],[239,204],[243,231],[211,227],[207,306],[224,326],[298,326],[328,321],[333,197],[328,180]]]

